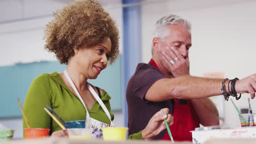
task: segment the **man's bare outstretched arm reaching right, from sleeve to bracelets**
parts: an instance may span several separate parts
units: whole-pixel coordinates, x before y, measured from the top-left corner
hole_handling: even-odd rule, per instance
[[[150,101],[168,99],[200,99],[221,95],[222,79],[208,79],[190,75],[156,81],[146,93]],[[228,83],[226,83],[227,87]]]

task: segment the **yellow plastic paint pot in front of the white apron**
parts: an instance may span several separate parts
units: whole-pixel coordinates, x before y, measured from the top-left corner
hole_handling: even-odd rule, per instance
[[[126,140],[126,127],[105,127],[101,128],[104,140]]]

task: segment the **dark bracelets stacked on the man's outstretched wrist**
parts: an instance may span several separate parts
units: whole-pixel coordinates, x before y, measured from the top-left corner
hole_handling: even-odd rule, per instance
[[[236,100],[240,99],[241,94],[239,95],[239,97],[237,97],[236,88],[235,88],[236,81],[239,80],[239,79],[236,77],[235,79],[229,80],[229,82],[228,82],[228,92],[226,91],[226,85],[225,85],[225,82],[227,80],[229,80],[229,79],[226,78],[226,79],[223,79],[223,81],[222,81],[222,90],[221,90],[221,92],[224,95],[224,99],[226,101],[228,101],[229,96],[235,97]],[[229,83],[230,83],[230,85],[229,85]]]

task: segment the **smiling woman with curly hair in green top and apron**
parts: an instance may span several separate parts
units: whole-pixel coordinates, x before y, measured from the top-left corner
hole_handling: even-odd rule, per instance
[[[43,110],[46,105],[64,121],[86,119],[92,137],[101,139],[101,128],[114,125],[110,96],[87,80],[96,79],[108,61],[113,63],[118,57],[117,26],[101,4],[92,0],[75,1],[58,10],[54,18],[45,28],[45,49],[54,52],[61,64],[67,64],[67,69],[61,74],[55,71],[34,79],[24,110],[32,128],[49,128],[52,136],[67,136],[67,133]],[[130,139],[153,139],[166,128],[164,118],[172,124],[168,109],[163,110],[165,117],[156,113],[147,127],[130,135]],[[24,128],[27,128],[25,122]]]

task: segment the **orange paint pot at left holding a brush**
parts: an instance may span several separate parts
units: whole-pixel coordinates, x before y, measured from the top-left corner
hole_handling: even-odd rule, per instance
[[[31,128],[24,129],[25,139],[42,139],[49,136],[50,129]]]

